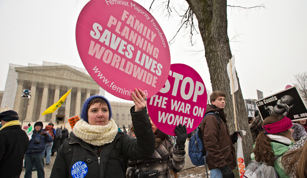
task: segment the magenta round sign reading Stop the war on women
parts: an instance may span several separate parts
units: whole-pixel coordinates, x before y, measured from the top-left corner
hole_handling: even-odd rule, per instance
[[[205,116],[207,92],[201,76],[190,66],[172,64],[164,87],[147,100],[154,125],[165,134],[176,135],[179,124],[194,131]]]

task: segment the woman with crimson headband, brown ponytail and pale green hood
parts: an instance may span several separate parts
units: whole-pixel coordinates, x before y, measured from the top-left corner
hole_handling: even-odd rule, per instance
[[[281,164],[282,155],[294,142],[292,139],[292,122],[289,118],[273,114],[263,121],[264,133],[256,139],[252,160],[261,161],[268,166],[274,166],[279,178],[289,178]],[[277,159],[276,159],[277,158]]]

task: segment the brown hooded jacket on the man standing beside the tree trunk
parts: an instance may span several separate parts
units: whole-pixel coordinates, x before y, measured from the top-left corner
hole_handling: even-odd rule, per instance
[[[232,144],[223,109],[207,105],[206,112],[218,112],[220,121],[214,115],[208,115],[201,124],[205,150],[208,151],[207,164],[209,170],[228,164],[231,170],[237,166],[235,148]]]

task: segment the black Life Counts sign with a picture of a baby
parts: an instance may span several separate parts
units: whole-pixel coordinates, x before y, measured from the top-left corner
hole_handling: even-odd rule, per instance
[[[257,100],[256,104],[263,120],[273,113],[284,115],[292,121],[307,118],[306,104],[295,86]]]

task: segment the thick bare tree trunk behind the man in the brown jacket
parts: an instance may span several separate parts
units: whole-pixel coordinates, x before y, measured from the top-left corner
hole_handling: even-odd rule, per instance
[[[227,114],[230,133],[233,133],[235,131],[233,101],[226,69],[227,63],[232,57],[227,35],[227,0],[186,1],[198,20],[205,46],[205,58],[209,68],[212,91],[220,90],[226,93],[224,111]],[[235,92],[235,106],[238,130],[247,132],[247,135],[243,138],[244,158],[247,166],[253,148],[253,138],[248,127],[247,112],[240,83],[239,90]]]

